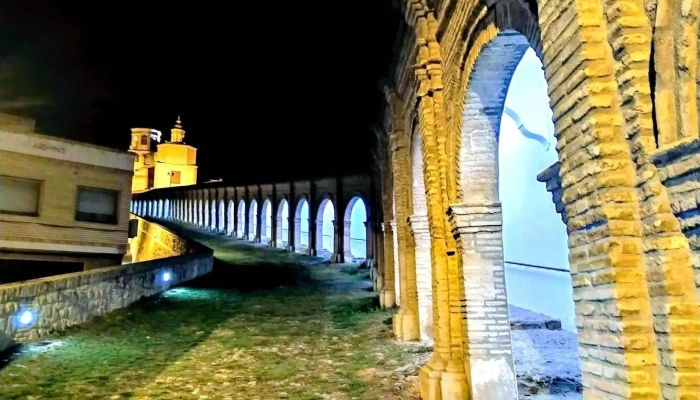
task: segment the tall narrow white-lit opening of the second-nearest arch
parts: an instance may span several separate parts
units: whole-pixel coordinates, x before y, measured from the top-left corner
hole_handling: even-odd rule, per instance
[[[428,204],[425,197],[423,175],[423,144],[420,129],[416,124],[411,146],[412,204],[409,217],[411,233],[415,242],[416,289],[418,292],[418,322],[421,340],[433,338],[433,287],[430,257],[430,230],[428,228]]]

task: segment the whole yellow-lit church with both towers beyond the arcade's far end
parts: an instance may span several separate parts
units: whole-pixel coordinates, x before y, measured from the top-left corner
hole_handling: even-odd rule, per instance
[[[185,144],[185,130],[178,116],[170,130],[170,142],[160,142],[161,133],[150,128],[132,128],[129,151],[136,154],[132,192],[197,183],[197,149]]]

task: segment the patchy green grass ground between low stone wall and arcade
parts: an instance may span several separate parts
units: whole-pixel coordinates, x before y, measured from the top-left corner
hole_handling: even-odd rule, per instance
[[[395,370],[425,348],[391,340],[366,270],[174,227],[214,273],[0,355],[0,399],[411,396]]]

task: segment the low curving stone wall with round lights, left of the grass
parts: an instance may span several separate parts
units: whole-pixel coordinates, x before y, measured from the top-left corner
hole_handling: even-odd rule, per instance
[[[139,243],[174,235],[145,220],[139,226],[144,228],[139,230],[140,235],[145,231],[153,235]],[[0,285],[0,351],[79,325],[211,272],[211,249],[179,237],[169,243],[174,244],[176,252],[185,254]],[[158,248],[161,253],[162,246]],[[32,317],[27,324],[21,321],[25,311]]]

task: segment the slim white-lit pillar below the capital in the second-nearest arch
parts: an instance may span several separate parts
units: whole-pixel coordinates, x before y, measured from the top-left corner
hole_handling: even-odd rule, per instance
[[[418,320],[421,340],[433,338],[433,272],[430,261],[430,230],[428,217],[412,215],[408,220],[415,243],[416,289],[418,291]]]

